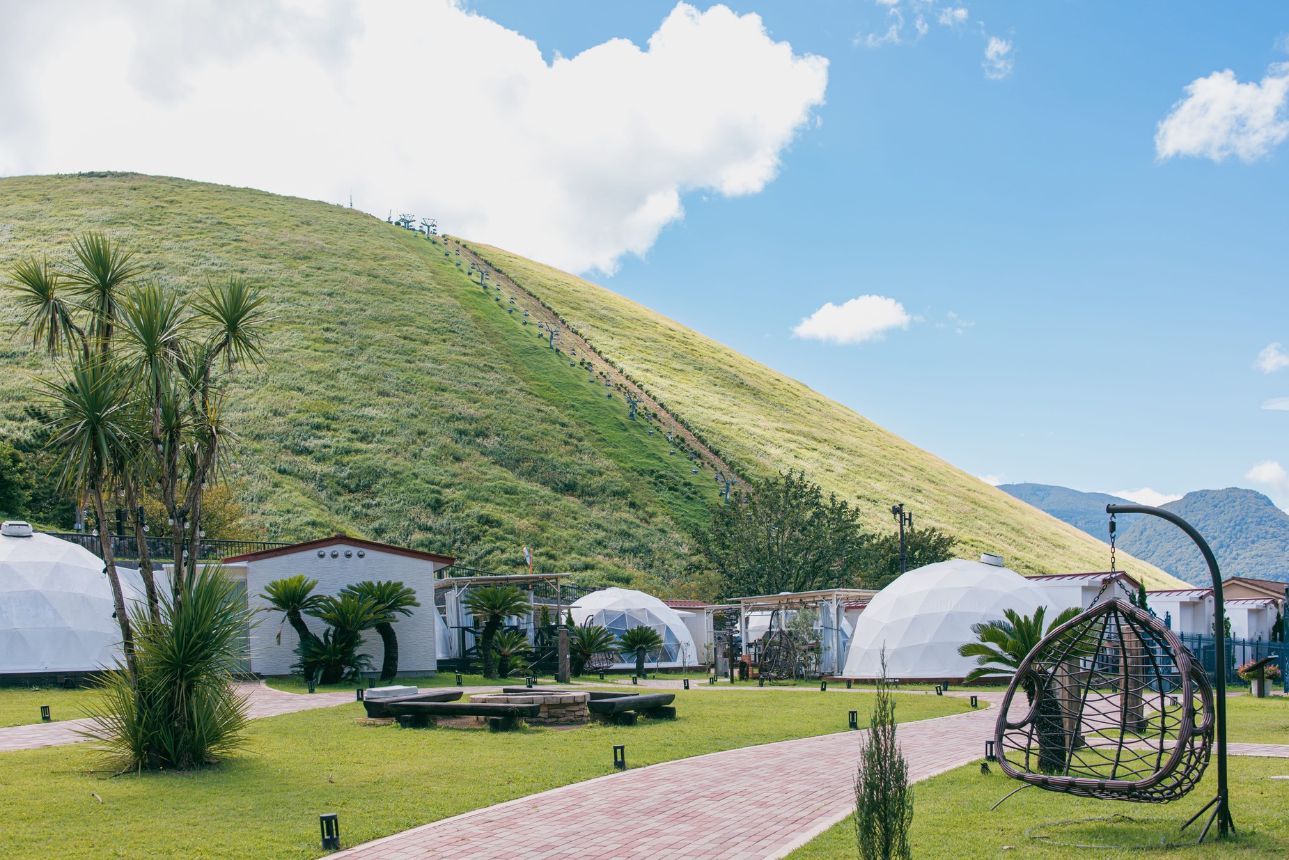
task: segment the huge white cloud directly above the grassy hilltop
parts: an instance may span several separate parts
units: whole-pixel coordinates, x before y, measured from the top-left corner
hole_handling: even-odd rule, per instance
[[[826,83],[825,58],[723,5],[682,3],[647,45],[547,63],[452,0],[3,4],[0,174],[352,193],[382,218],[612,271],[686,193],[764,188]]]

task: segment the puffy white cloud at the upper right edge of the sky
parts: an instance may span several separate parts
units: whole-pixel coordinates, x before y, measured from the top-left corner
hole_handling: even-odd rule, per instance
[[[1160,160],[1178,155],[1254,161],[1289,137],[1285,101],[1289,63],[1275,63],[1262,83],[1241,84],[1230,68],[1197,77],[1155,134]]]

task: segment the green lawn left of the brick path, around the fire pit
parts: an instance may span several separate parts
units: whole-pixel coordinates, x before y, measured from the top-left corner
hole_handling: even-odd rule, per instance
[[[84,745],[0,753],[0,856],[316,857],[317,816],[339,812],[345,846],[612,771],[844,730],[846,701],[776,691],[678,691],[675,721],[576,730],[354,725],[357,704],[253,721],[236,758],[189,774],[89,772]],[[918,719],[965,703],[904,696]],[[98,794],[102,803],[94,797]]]

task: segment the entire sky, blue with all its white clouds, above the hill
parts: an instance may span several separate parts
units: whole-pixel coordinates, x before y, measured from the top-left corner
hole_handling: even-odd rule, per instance
[[[1284,3],[8,4],[0,175],[437,217],[974,474],[1289,505],[1286,48]]]

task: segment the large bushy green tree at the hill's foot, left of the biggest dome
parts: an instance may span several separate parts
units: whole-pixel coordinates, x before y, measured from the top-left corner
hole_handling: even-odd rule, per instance
[[[717,508],[697,540],[726,596],[839,587],[862,570],[867,536],[858,508],[825,499],[803,472],[754,482],[740,502]]]

